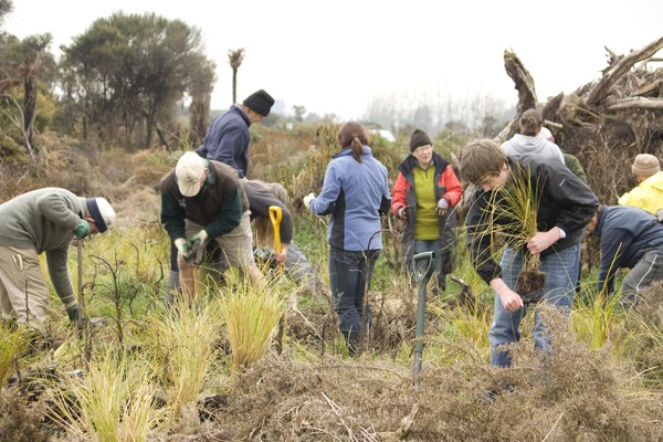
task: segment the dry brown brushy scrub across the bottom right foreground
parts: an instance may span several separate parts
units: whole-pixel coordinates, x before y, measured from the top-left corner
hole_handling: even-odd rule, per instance
[[[660,440],[660,396],[646,393],[608,351],[577,341],[555,311],[541,314],[552,354],[524,339],[511,349],[514,366],[495,369],[471,341],[439,340],[463,357],[424,364],[419,388],[402,364],[270,354],[236,378],[214,425],[249,441],[383,441],[403,433],[409,441]]]

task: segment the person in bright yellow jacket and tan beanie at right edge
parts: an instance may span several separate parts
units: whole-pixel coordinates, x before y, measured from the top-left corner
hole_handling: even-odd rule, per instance
[[[663,214],[657,213],[663,209],[663,172],[659,158],[650,154],[640,154],[635,157],[631,171],[638,186],[620,197],[619,206],[632,206],[656,215]]]

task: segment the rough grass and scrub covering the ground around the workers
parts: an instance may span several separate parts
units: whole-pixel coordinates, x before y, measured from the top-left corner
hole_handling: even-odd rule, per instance
[[[232,271],[222,285],[201,272],[192,307],[162,303],[169,242],[156,188],[181,151],[87,152],[53,144],[48,177],[0,166],[3,177],[20,178],[7,198],[61,186],[104,194],[118,212],[114,229],[83,242],[85,327],[70,326],[53,295],[48,336],[28,339],[9,324],[2,329],[0,440],[663,438],[663,286],[653,286],[642,307],[622,311],[619,293],[596,292],[591,242],[570,322],[539,307],[552,352],[534,350],[527,316],[523,340],[509,348],[513,367],[496,369],[487,341],[493,295],[470,266],[460,227],[453,278],[445,294],[427,302],[423,366],[414,382],[418,287],[402,269],[400,225],[389,217],[388,250],[369,290],[373,324],[359,356],[349,358],[330,306],[326,220],[301,203],[307,192],[319,191],[336,151],[335,129],[252,128],[252,170],[288,189],[295,240],[317,271],[318,290],[307,292],[269,267],[266,292]],[[408,135],[393,144],[372,141],[392,179]],[[434,144],[453,158],[464,139],[442,133]],[[76,250],[74,244],[70,253],[74,283]],[[285,307],[293,293],[298,313]]]

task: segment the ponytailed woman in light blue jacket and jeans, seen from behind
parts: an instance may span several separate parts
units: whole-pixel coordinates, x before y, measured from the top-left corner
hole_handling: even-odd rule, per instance
[[[304,204],[330,215],[329,285],[339,329],[354,356],[361,327],[367,333],[370,326],[365,292],[382,249],[380,215],[389,212],[391,196],[387,168],[372,156],[364,126],[344,124],[338,143],[341,150],[327,166],[320,194],[307,194]]]

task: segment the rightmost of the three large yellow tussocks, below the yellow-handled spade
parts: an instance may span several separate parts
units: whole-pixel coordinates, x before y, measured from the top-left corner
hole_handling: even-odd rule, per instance
[[[266,291],[240,283],[240,287],[221,301],[234,369],[248,368],[265,355],[274,329],[285,314],[287,295],[281,293],[278,277],[275,275],[267,283]]]

